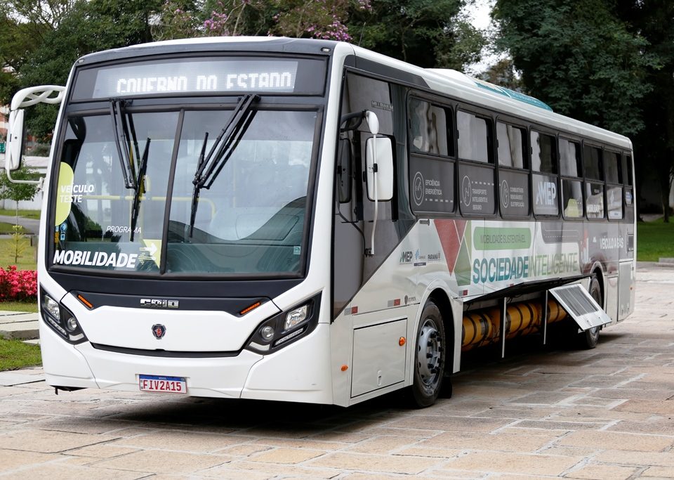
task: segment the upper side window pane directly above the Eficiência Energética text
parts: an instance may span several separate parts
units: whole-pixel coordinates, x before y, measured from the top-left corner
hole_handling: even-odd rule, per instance
[[[434,155],[454,155],[451,115],[444,108],[412,98],[409,102],[410,150]]]

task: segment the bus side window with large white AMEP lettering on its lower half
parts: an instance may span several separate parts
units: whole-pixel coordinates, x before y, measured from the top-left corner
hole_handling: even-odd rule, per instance
[[[557,181],[557,141],[554,136],[531,131],[531,169],[534,214],[560,214]]]

